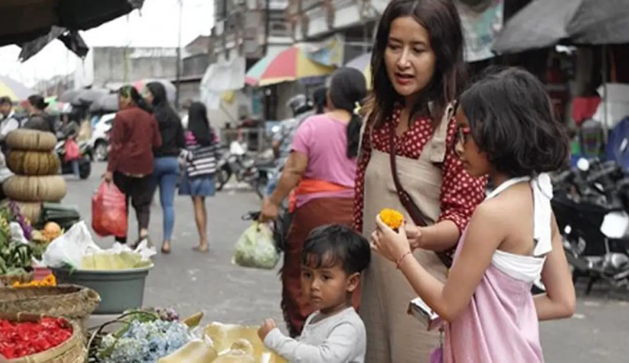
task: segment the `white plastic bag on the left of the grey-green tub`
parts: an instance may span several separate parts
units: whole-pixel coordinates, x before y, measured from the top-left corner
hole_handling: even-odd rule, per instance
[[[48,267],[70,265],[78,269],[84,255],[101,251],[101,247],[92,240],[85,221],[80,221],[50,242],[42,256],[42,263]]]

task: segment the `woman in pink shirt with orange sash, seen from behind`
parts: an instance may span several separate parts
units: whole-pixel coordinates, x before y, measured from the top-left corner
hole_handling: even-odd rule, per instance
[[[294,211],[282,267],[282,310],[291,337],[301,333],[313,307],[301,296],[301,249],[313,228],[352,224],[356,156],[359,151],[360,104],[367,96],[364,75],[341,67],[331,75],[326,113],[299,126],[282,175],[262,204],[262,221],[277,218],[282,201],[294,190]],[[358,294],[354,304],[357,306]]]

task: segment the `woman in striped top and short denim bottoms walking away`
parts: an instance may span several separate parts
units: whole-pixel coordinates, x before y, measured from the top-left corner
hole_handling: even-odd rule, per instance
[[[218,137],[209,124],[208,110],[203,103],[193,102],[188,109],[186,132],[187,163],[179,186],[179,195],[191,196],[194,205],[194,221],[199,232],[198,252],[209,251],[208,211],[205,198],[216,193],[216,151]]]

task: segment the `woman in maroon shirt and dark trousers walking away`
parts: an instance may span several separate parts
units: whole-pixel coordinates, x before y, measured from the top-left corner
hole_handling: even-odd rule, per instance
[[[126,194],[138,219],[138,239],[131,247],[147,240],[150,206],[155,190],[153,182],[153,149],[162,145],[157,121],[146,101],[133,86],[123,86],[118,91],[120,111],[116,113],[109,138],[109,159],[104,179],[113,181]],[[126,237],[116,237],[126,243]]]

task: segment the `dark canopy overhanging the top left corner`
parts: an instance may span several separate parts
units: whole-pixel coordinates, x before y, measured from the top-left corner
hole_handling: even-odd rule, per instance
[[[3,0],[0,46],[47,35],[52,26],[89,30],[142,8],[144,0]]]

